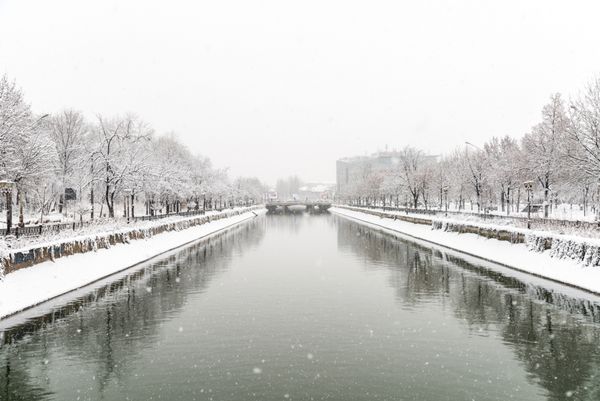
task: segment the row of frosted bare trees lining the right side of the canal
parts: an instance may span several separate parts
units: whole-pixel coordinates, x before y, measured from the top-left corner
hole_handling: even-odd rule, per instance
[[[425,208],[451,202],[458,209],[509,214],[525,206],[531,185],[545,217],[562,202],[580,204],[585,213],[600,201],[600,78],[572,101],[553,94],[541,121],[520,140],[494,137],[481,148],[467,142],[441,156],[410,146],[394,154],[390,167],[365,167],[338,197]]]

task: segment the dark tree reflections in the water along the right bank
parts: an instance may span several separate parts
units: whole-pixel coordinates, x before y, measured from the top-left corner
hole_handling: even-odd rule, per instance
[[[371,265],[398,266],[391,269],[390,282],[403,305],[443,296],[472,330],[498,327],[549,399],[600,399],[598,304],[347,220],[338,220],[338,245]]]

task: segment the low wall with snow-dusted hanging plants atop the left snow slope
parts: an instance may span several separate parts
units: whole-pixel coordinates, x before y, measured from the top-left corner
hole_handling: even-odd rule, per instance
[[[132,240],[149,238],[167,231],[180,231],[186,228],[209,223],[232,216],[237,216],[249,211],[262,208],[252,206],[240,210],[231,210],[211,216],[198,216],[188,220],[159,224],[146,228],[124,228],[120,232],[104,233],[85,238],[66,239],[50,245],[34,246],[28,250],[10,252],[0,259],[0,278],[3,274],[9,274],[25,267],[38,263],[47,262],[63,256],[74,255],[109,248],[115,244],[126,244]]]

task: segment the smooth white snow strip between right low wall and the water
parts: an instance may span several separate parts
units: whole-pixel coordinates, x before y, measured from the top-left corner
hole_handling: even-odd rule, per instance
[[[600,294],[600,267],[598,266],[584,267],[573,260],[553,258],[549,251],[534,252],[526,244],[511,244],[476,234],[433,230],[429,225],[381,218],[337,207],[331,208],[330,211],[407,237],[441,245],[505,267]]]

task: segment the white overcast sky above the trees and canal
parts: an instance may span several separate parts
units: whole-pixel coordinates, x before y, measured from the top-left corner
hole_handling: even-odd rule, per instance
[[[135,112],[232,175],[520,137],[600,73],[598,1],[0,0],[34,111]]]

